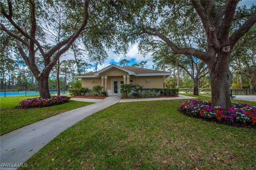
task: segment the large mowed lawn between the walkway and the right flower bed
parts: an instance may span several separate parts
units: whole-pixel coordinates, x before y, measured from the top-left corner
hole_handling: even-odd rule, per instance
[[[182,115],[177,108],[184,101],[110,106],[62,132],[26,161],[27,168],[256,168],[255,129]]]

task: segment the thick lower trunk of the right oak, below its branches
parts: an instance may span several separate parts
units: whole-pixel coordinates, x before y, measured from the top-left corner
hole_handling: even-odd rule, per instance
[[[216,63],[213,65],[214,66],[212,67],[208,66],[212,86],[212,106],[231,107],[229,88],[232,80],[232,73],[228,67],[226,67],[223,72],[218,72]]]

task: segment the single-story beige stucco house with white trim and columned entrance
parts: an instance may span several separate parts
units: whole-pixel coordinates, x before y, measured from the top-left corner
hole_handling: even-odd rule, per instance
[[[100,85],[109,95],[120,95],[121,84],[139,84],[143,88],[163,88],[164,79],[170,75],[170,72],[165,71],[111,64],[97,72],[81,74],[74,78],[82,78],[82,87],[92,89],[93,86]]]

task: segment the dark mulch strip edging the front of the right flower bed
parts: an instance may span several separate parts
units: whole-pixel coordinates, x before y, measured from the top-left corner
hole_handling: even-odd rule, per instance
[[[233,127],[240,127],[240,128],[251,128],[251,129],[256,129],[256,125],[252,125],[252,122],[234,122],[234,123],[228,123],[226,121],[218,121],[218,120],[213,120],[210,118],[206,118],[206,117],[201,117],[201,116],[196,116],[196,115],[190,115],[187,114],[186,111],[184,109],[180,109],[178,108],[178,111],[180,111],[180,113],[182,113],[183,115],[186,115],[188,117],[193,117],[195,119],[200,119],[202,121],[207,121],[210,123],[215,123],[215,124],[222,124],[222,125],[227,125],[227,126],[233,126]]]

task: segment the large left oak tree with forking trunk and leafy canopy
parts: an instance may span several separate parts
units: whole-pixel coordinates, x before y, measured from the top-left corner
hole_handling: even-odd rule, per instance
[[[112,11],[108,3],[90,0],[1,1],[1,30],[16,39],[16,49],[36,77],[41,98],[50,97],[50,72],[73,43],[82,46],[91,61],[102,63],[106,59],[106,49],[115,43],[112,36],[114,24],[112,16],[108,15]],[[50,15],[60,4],[65,16],[61,24]],[[46,38],[49,32],[58,35],[50,26],[56,22],[62,29],[59,33],[64,33],[57,43]],[[42,69],[36,63],[38,56],[43,59]]]

